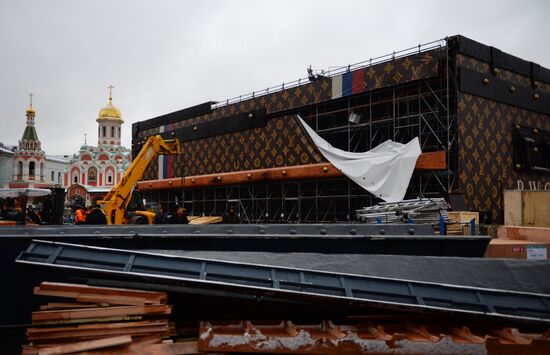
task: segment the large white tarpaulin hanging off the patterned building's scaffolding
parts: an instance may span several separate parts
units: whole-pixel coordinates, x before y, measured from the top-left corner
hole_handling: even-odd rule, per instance
[[[321,154],[349,179],[388,202],[402,201],[420,156],[418,137],[407,144],[387,140],[364,153],[334,148],[298,116]]]

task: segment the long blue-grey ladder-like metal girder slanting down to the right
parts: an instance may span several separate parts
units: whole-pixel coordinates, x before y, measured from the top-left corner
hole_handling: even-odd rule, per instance
[[[176,257],[33,241],[20,264],[79,270],[107,278],[187,285],[208,292],[344,301],[373,308],[443,311],[550,323],[550,295],[435,284],[318,270]],[[458,271],[457,271],[458,272]]]

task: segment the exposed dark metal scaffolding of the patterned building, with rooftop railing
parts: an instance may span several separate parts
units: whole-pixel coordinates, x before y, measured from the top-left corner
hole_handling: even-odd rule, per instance
[[[415,172],[407,197],[445,196],[456,190],[458,184],[456,85],[448,40],[350,65],[331,76],[434,49],[439,56],[439,73],[435,77],[275,113],[271,117],[299,114],[324,139],[348,151],[367,151],[387,139],[406,143],[418,136],[423,151],[446,152],[447,169]],[[302,81],[294,84],[301,85]],[[282,85],[277,90],[287,88],[288,85]],[[266,89],[263,94],[273,90]],[[258,95],[260,93],[252,93],[239,100]],[[238,102],[236,100],[220,103],[215,108]],[[352,112],[361,116],[360,122],[350,122]],[[232,200],[243,223],[350,222],[357,209],[380,201],[347,178],[147,191],[145,197],[168,206],[169,210],[183,201],[189,214],[206,216],[224,214],[228,201]]]

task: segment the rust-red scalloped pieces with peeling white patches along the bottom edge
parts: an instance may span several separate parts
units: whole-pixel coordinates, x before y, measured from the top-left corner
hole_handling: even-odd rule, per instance
[[[424,322],[425,323],[425,322]],[[546,333],[401,320],[336,325],[203,322],[199,351],[263,354],[548,354]]]

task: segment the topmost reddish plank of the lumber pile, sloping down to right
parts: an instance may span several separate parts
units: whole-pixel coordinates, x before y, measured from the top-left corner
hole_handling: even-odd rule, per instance
[[[114,287],[98,287],[98,286],[68,284],[68,283],[60,283],[60,282],[42,282],[40,284],[39,290],[41,292],[45,292],[45,291],[66,292],[67,295],[71,295],[66,297],[71,297],[71,298],[75,298],[78,295],[83,295],[83,294],[93,294],[93,295],[144,298],[146,300],[152,301],[153,303],[166,303],[167,301],[167,296],[165,292],[131,290],[131,289],[114,288]]]

